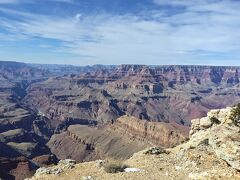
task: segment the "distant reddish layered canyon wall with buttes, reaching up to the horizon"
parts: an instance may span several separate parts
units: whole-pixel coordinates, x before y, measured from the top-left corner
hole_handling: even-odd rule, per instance
[[[57,124],[104,124],[126,114],[189,125],[209,109],[238,102],[238,77],[237,67],[122,65],[34,84],[25,102]]]

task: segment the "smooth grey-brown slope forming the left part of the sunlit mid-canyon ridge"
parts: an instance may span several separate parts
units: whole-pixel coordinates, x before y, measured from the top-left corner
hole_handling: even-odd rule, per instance
[[[149,144],[131,139],[111,128],[73,125],[67,132],[54,135],[48,146],[59,159],[71,158],[82,162],[105,158],[126,159]]]

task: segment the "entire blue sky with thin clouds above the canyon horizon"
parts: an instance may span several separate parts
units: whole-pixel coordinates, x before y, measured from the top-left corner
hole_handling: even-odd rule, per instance
[[[239,0],[0,0],[0,60],[240,65]]]

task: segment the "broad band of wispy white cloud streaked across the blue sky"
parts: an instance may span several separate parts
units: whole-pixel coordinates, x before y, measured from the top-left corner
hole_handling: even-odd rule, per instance
[[[239,3],[228,0],[154,2],[185,8],[167,14],[154,11],[148,20],[129,14],[84,16],[79,12],[62,17],[0,8],[0,12],[18,17],[18,20],[0,18],[0,26],[9,32],[11,39],[15,35],[18,39],[58,40],[61,42],[59,52],[91,57],[92,63],[112,64],[113,59],[118,63],[180,63],[203,56],[224,55],[230,60],[240,55]]]

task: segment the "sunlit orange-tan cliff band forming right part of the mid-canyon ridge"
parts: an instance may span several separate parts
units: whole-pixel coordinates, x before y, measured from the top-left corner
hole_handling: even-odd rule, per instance
[[[176,123],[149,122],[126,115],[117,119],[115,127],[134,139],[165,148],[176,146],[188,137],[188,127]]]

